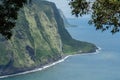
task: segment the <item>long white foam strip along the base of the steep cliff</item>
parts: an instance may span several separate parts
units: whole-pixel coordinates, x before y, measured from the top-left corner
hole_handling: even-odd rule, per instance
[[[28,73],[33,73],[33,72],[41,71],[41,70],[44,70],[44,69],[49,68],[49,67],[51,67],[51,66],[54,66],[54,65],[56,65],[56,64],[58,64],[58,63],[63,62],[64,60],[66,60],[66,59],[67,59],[68,57],[70,57],[70,56],[71,56],[71,55],[68,55],[68,56],[64,57],[63,59],[58,60],[58,61],[53,62],[53,63],[48,64],[48,65],[45,65],[45,66],[43,66],[42,68],[36,68],[36,69],[34,69],[34,70],[25,71],[25,72],[21,72],[21,73],[16,73],[16,74],[12,74],[12,75],[0,76],[0,78],[18,76],[18,75],[23,75],[23,74],[28,74]]]

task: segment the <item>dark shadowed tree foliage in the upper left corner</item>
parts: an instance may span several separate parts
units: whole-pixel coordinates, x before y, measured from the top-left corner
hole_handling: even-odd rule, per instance
[[[10,39],[15,27],[18,11],[27,0],[0,0],[0,33]]]

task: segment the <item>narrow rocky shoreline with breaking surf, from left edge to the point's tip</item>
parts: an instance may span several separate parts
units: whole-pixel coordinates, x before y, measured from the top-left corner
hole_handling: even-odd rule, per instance
[[[98,47],[98,49],[96,49],[95,52],[89,52],[89,53],[99,53],[99,51],[101,50],[100,47]],[[78,52],[76,52],[78,54]],[[77,55],[76,54],[76,55]],[[79,54],[84,54],[84,53],[79,53]],[[58,61],[55,61],[55,62],[51,62],[49,64],[46,64],[44,66],[37,66],[37,67],[33,67],[33,68],[29,68],[29,69],[25,69],[25,70],[21,70],[21,71],[18,71],[18,72],[15,72],[13,74],[6,74],[6,75],[3,75],[3,76],[0,76],[0,78],[7,78],[7,77],[12,77],[12,76],[18,76],[18,75],[23,75],[23,74],[29,74],[29,73],[33,73],[33,72],[37,72],[37,71],[41,71],[41,70],[44,70],[46,68],[49,68],[51,66],[54,66],[58,63],[61,63],[63,61],[65,61],[67,58],[69,58],[70,56],[74,56],[74,55],[67,55],[67,56],[64,56],[62,57],[62,59],[59,59]]]

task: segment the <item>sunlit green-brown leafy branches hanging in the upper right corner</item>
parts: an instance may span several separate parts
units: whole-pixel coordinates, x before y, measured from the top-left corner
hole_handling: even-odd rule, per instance
[[[120,0],[71,0],[69,5],[72,14],[82,16],[91,14],[89,24],[94,24],[97,30],[111,29],[112,33],[120,31]]]

